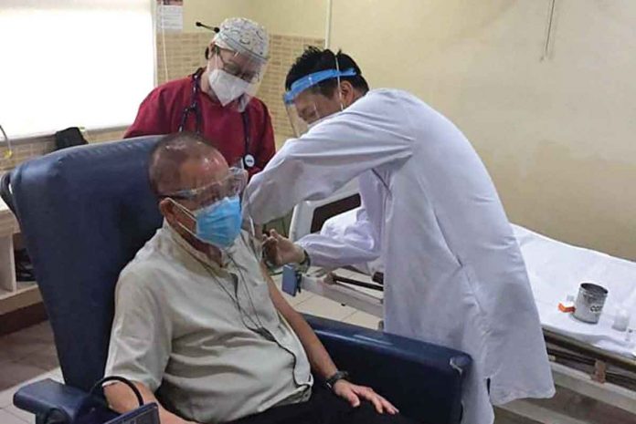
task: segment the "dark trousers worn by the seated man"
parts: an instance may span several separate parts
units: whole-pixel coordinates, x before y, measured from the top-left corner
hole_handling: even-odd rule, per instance
[[[345,399],[314,385],[312,397],[306,402],[270,408],[232,424],[415,424],[415,421],[399,414],[378,414],[366,401],[353,408]]]

